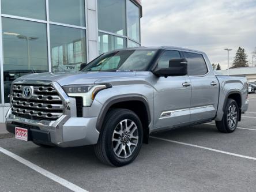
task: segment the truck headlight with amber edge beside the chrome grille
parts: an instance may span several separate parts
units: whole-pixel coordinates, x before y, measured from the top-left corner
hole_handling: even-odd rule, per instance
[[[84,107],[90,107],[96,94],[103,90],[110,88],[111,85],[66,85],[63,86],[64,91],[70,97],[82,97],[82,104]]]

